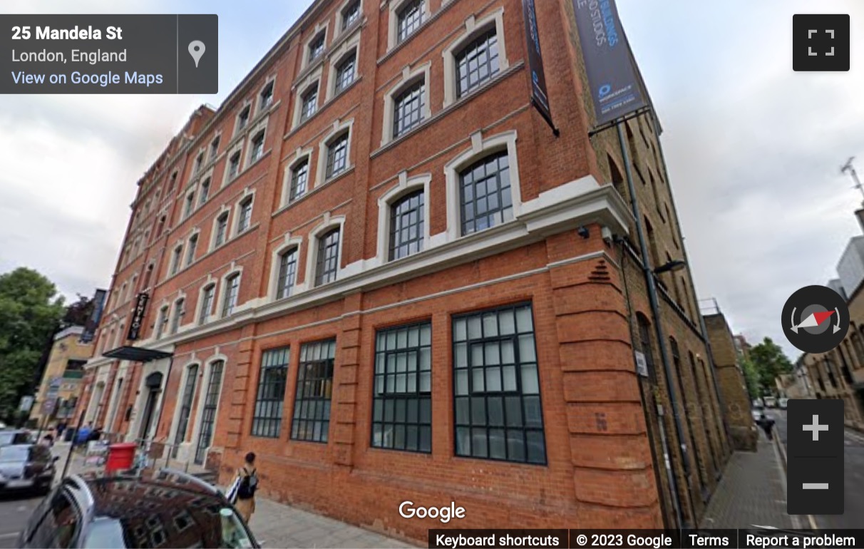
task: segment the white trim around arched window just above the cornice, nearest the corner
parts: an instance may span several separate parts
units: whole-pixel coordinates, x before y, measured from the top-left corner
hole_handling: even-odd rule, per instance
[[[498,150],[507,150],[510,164],[510,192],[513,201],[513,219],[518,219],[522,211],[522,190],[519,182],[517,157],[517,131],[505,131],[491,137],[483,137],[480,131],[471,135],[471,147],[444,166],[444,179],[447,188],[447,236],[452,242],[461,238],[461,204],[459,192],[459,171],[480,158]]]

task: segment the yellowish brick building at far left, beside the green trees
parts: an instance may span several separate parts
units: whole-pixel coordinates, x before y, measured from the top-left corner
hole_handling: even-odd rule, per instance
[[[81,393],[84,366],[92,357],[92,343],[79,342],[83,326],[71,326],[54,335],[48,365],[39,384],[30,419],[36,425],[48,419],[47,426],[71,421]]]

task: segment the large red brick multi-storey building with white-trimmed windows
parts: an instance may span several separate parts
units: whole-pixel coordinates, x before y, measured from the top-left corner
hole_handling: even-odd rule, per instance
[[[657,126],[626,123],[631,201],[614,131],[588,137],[572,3],[537,3],[559,137],[522,13],[318,0],[195,112],[138,182],[88,420],[222,481],[254,450],[265,495],[409,538],[442,523],[403,501],[694,524],[729,446],[689,271],[648,299],[684,254]]]

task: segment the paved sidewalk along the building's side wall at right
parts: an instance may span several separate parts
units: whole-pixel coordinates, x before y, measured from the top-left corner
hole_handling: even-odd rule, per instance
[[[786,514],[786,476],[774,443],[759,433],[756,452],[735,452],[702,517],[703,528],[799,528]]]

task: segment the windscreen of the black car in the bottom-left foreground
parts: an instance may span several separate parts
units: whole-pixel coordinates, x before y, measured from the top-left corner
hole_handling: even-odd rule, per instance
[[[211,506],[200,510],[188,508],[187,511],[191,511],[191,515],[181,512],[173,520],[164,520],[163,514],[151,514],[146,520],[147,528],[126,517],[94,520],[87,530],[84,547],[254,547],[243,522],[232,508]],[[134,514],[136,510],[132,512]],[[214,520],[217,516],[219,520]]]

